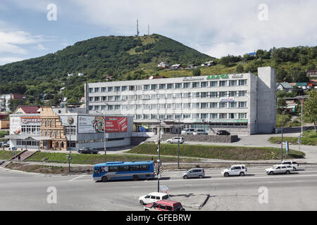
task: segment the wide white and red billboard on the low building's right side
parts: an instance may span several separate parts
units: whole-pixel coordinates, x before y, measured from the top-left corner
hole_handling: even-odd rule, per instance
[[[104,117],[78,117],[78,133],[104,132],[104,127]],[[127,117],[106,117],[106,133],[126,131],[128,131]]]

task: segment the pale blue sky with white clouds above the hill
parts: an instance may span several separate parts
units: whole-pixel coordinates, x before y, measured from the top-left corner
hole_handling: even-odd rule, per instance
[[[99,36],[161,34],[220,58],[316,46],[316,0],[1,0],[0,65]]]

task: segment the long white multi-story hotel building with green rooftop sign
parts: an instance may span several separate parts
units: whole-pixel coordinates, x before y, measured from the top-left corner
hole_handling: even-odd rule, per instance
[[[142,79],[85,84],[87,113],[132,115],[134,131],[144,127],[176,132],[199,128],[214,134],[275,130],[276,73],[271,67],[233,75]],[[180,124],[180,125],[179,125]],[[143,129],[144,130],[144,129]]]

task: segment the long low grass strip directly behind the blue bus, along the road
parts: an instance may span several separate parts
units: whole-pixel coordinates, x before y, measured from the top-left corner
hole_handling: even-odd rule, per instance
[[[67,159],[68,153],[42,153],[37,152],[32,155],[30,158],[24,161],[35,161],[42,162],[46,158],[45,162],[59,162],[59,163],[68,163]],[[154,155],[154,160],[157,152],[152,154]],[[132,154],[118,154],[118,155],[92,155],[92,154],[73,154],[73,164],[87,164],[94,165],[101,162],[111,162],[111,161],[143,161],[151,160],[151,155],[132,155]],[[177,162],[178,158],[175,157],[165,157],[161,158],[163,162]],[[192,159],[181,159],[180,162],[189,162]]]

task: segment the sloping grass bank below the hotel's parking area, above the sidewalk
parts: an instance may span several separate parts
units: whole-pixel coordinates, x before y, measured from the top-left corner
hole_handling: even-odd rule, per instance
[[[135,146],[128,153],[154,154],[156,150],[155,143],[144,143]],[[161,155],[178,155],[178,146],[168,143],[161,144]],[[283,149],[283,156],[285,155],[286,150]],[[290,150],[287,158],[303,158],[304,155],[297,150]],[[180,145],[180,156],[220,160],[279,160],[280,148]]]

